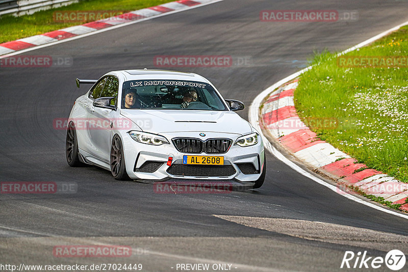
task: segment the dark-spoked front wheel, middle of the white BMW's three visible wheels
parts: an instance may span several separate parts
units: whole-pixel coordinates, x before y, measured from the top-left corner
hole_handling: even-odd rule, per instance
[[[118,135],[115,135],[112,140],[111,173],[116,180],[130,180],[124,165],[122,141]]]

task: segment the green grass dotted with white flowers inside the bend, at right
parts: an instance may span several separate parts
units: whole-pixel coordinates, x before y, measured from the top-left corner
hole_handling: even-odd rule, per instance
[[[407,56],[408,28],[345,56]],[[295,106],[301,118],[337,118],[318,137],[369,168],[408,182],[408,68],[339,67],[336,53],[316,54],[300,76]]]

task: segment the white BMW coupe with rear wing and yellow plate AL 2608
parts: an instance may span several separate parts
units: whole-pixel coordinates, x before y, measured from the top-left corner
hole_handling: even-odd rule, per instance
[[[66,158],[95,165],[118,180],[234,184],[259,188],[265,151],[256,129],[206,78],[164,70],[112,71],[72,107]]]

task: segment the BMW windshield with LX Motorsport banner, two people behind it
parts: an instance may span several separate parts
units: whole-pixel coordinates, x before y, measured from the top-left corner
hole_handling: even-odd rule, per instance
[[[227,111],[211,85],[166,79],[125,81],[122,108]]]

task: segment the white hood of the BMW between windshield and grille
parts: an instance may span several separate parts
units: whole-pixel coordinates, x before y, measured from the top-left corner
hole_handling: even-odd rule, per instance
[[[121,110],[143,131],[165,133],[175,131],[227,132],[245,135],[252,132],[251,125],[230,111],[183,110]]]

